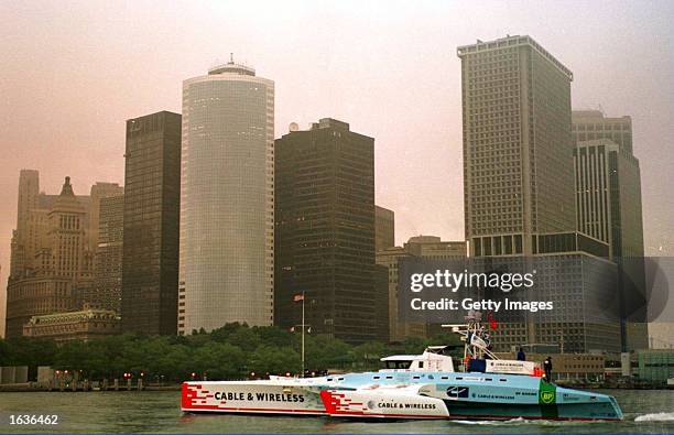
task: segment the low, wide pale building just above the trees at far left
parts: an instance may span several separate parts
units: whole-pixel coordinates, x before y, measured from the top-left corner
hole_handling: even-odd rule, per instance
[[[55,341],[83,340],[119,334],[120,318],[110,309],[85,306],[79,312],[33,316],[23,326],[25,337],[48,338]]]

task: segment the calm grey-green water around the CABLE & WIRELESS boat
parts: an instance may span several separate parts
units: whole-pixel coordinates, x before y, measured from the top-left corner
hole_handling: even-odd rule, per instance
[[[674,433],[674,391],[606,392],[618,399],[624,421],[377,423],[330,417],[183,415],[180,392],[0,393],[0,433]],[[59,414],[59,424],[17,428],[7,425],[8,412]]]

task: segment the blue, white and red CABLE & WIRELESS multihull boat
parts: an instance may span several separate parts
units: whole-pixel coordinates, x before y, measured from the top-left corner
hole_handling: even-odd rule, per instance
[[[464,341],[463,371],[447,346],[382,358],[384,369],[318,378],[191,381],[182,388],[188,413],[329,415],[358,418],[621,420],[611,395],[558,387],[532,361],[498,359],[480,313],[445,325]]]

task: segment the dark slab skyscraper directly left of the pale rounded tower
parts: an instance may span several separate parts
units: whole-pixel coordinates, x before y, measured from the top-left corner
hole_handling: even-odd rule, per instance
[[[122,330],[176,334],[181,116],[127,121]]]

